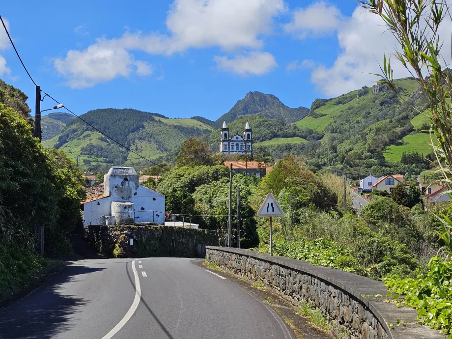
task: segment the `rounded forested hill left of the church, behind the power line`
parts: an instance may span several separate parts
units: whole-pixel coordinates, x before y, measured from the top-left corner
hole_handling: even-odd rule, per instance
[[[87,165],[146,166],[178,147],[190,136],[202,136],[212,127],[195,119],[169,119],[157,113],[132,109],[99,109],[81,115],[86,122],[127,146],[127,151],[82,120],[70,120],[60,134],[43,141],[46,148],[57,148],[68,157]],[[139,155],[135,154],[138,153]]]

